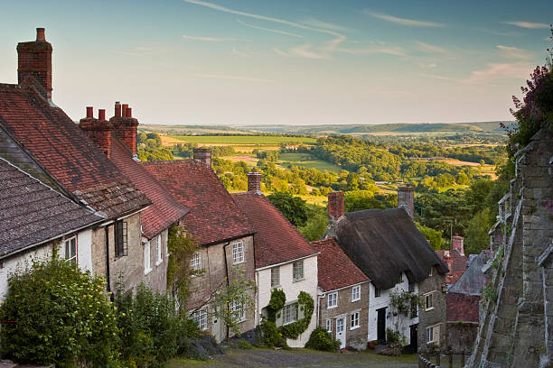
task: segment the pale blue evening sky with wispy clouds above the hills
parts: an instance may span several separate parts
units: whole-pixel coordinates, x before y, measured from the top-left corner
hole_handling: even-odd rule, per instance
[[[142,124],[512,120],[553,2],[0,0],[0,82],[46,28],[53,102]]]

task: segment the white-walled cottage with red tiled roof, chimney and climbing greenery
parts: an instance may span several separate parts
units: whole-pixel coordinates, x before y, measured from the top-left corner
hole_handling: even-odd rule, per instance
[[[267,316],[273,290],[286,294],[284,308],[277,312],[277,327],[305,318],[298,296],[305,291],[317,299],[317,252],[294,225],[261,193],[261,174],[248,173],[248,191],[232,195],[253,226],[256,253],[257,313],[256,325]],[[314,311],[305,331],[296,339],[287,339],[292,347],[303,347],[317,324]]]

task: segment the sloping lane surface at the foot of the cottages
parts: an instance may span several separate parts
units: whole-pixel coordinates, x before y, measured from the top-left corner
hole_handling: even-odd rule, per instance
[[[216,355],[213,360],[202,363],[191,361],[173,361],[170,368],[184,366],[202,366],[206,368],[287,368],[287,367],[328,367],[328,368],[414,368],[417,367],[417,355],[388,357],[370,353],[333,354],[305,349],[292,351],[253,349],[231,349],[227,354]]]

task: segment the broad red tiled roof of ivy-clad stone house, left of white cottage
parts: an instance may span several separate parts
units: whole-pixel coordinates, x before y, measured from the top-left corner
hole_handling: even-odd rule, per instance
[[[248,220],[211,168],[194,160],[142,162],[177,200],[190,210],[184,227],[202,245],[254,233]]]

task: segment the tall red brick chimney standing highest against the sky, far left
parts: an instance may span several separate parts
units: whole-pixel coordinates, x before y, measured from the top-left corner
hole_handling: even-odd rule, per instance
[[[52,45],[46,41],[44,28],[36,29],[36,41],[17,44],[17,83],[33,77],[52,99]]]

